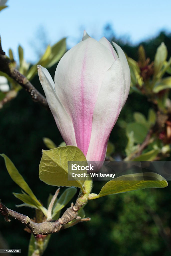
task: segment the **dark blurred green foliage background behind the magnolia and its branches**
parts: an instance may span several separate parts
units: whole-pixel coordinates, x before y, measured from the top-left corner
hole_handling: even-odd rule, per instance
[[[118,42],[115,38],[114,40]],[[142,42],[146,56],[153,60],[162,41],[165,42],[170,57],[171,35],[166,35],[165,32]],[[132,46],[121,40],[119,44],[128,56],[137,60],[138,45]],[[56,66],[50,69],[52,77],[55,69]],[[43,93],[37,76],[32,83]],[[119,120],[132,121],[132,113],[135,111],[147,116],[150,107],[144,96],[132,93]],[[44,184],[38,177],[41,150],[47,149],[43,144],[43,137],[49,137],[56,145],[63,141],[51,113],[34,103],[30,96],[21,90],[17,98],[0,111],[0,153],[5,153],[13,161],[37,198],[46,206],[49,193],[54,193],[56,187]],[[118,124],[111,133],[110,141],[115,144],[116,152],[124,156],[127,138]],[[15,207],[21,201],[15,198],[12,192],[19,193],[21,190],[9,177],[2,158],[0,166],[2,202],[13,210],[33,217],[34,209]],[[93,192],[97,193],[101,186],[100,182],[95,182]],[[61,191],[63,190],[64,188],[61,188]],[[53,234],[44,255],[171,255],[171,248],[167,246],[171,241],[170,193],[171,186],[168,186],[164,189],[139,190],[90,200],[85,211],[86,216],[91,217],[91,222],[78,224]],[[149,214],[149,210],[159,216],[167,234],[167,243],[166,239],[161,237],[160,229],[154,222],[154,216]],[[27,255],[30,234],[23,230],[23,225],[14,220],[7,223],[0,216],[0,231],[9,248],[21,248],[21,255]]]

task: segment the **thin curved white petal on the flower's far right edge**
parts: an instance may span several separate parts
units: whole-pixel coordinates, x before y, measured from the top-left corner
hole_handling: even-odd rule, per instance
[[[124,96],[124,104],[125,104],[125,102],[128,98],[129,90],[130,90],[130,83],[131,83],[130,69],[129,69],[128,61],[127,61],[124,51],[121,49],[121,47],[119,45],[117,45],[114,42],[112,42],[112,43],[117,50],[118,56],[120,58],[120,61],[121,61],[121,64],[122,64],[122,67],[123,67],[124,73],[125,73],[125,80],[126,80],[126,88],[125,88],[125,96]]]

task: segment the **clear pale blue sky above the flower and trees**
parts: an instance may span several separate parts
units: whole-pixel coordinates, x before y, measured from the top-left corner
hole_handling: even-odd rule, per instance
[[[0,13],[3,49],[7,52],[11,47],[17,58],[20,44],[29,61],[37,58],[31,42],[39,48],[36,33],[40,27],[47,42],[53,44],[67,37],[68,47],[81,39],[83,29],[100,39],[107,23],[112,24],[117,37],[129,37],[132,43],[152,37],[161,29],[171,32],[170,0],[8,0],[7,4],[9,7]]]

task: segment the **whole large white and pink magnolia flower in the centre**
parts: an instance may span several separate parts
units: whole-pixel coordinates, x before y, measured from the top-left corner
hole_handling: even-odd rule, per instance
[[[130,89],[130,70],[122,49],[102,37],[82,41],[60,60],[53,82],[37,66],[39,79],[67,145],[80,148],[87,161],[104,161],[109,135]]]

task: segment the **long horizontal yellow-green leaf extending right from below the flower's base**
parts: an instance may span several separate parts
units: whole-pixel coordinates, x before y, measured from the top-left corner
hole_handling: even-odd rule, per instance
[[[146,180],[142,180],[146,179]],[[152,180],[148,180],[152,179]],[[144,188],[164,188],[168,186],[167,181],[156,173],[127,174],[110,180],[101,189],[100,193],[90,194],[89,199],[96,199],[111,194],[125,193]]]

